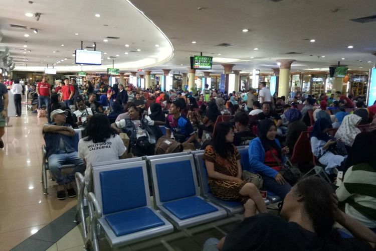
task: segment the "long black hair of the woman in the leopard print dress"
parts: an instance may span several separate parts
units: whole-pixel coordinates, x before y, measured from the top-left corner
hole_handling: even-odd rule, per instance
[[[234,153],[234,145],[232,142],[226,141],[226,135],[234,130],[234,127],[228,122],[221,122],[217,124],[215,128],[215,135],[213,136],[212,146],[214,150],[223,158],[226,158],[229,154]]]

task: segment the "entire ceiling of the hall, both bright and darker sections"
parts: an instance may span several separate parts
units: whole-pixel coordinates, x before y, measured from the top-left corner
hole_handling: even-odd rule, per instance
[[[68,58],[56,68],[80,71],[81,67],[73,64],[72,53],[80,48],[81,40],[84,40],[84,46],[97,42],[97,50],[107,52],[103,55],[105,65],[97,68],[83,66],[84,71],[112,67],[112,60],[105,56],[116,54],[119,57],[115,59],[115,68],[149,67],[155,71],[167,68],[176,72],[186,72],[189,57],[200,55],[200,52],[215,57],[212,70],[215,73],[223,71],[216,57],[235,64],[236,70],[247,72],[253,69],[271,71],[271,68],[278,67],[276,61],[279,59],[296,60],[292,71],[324,69],[338,61],[352,70],[367,71],[376,61],[371,55],[376,51],[376,22],[361,24],[350,21],[375,15],[375,0],[133,0],[132,3],[168,39],[126,0],[39,0],[34,4],[28,4],[26,0],[2,0],[0,29],[4,38],[0,51],[9,47],[14,60],[20,60],[16,65],[19,70],[43,69],[47,63],[51,66]],[[43,15],[37,22],[25,16],[28,12]],[[96,13],[101,17],[94,17]],[[30,37],[25,38],[25,30],[11,28],[10,24],[37,28],[39,32],[34,34],[28,30]],[[243,29],[249,32],[243,33]],[[103,39],[107,36],[120,39],[109,39],[105,43]],[[310,39],[316,42],[311,43]],[[192,44],[192,41],[197,43]],[[216,46],[221,43],[233,46]],[[15,50],[23,49],[24,44],[31,53]],[[130,47],[124,47],[125,44]],[[354,48],[348,49],[348,45]],[[141,52],[129,52],[137,48]],[[126,56],[124,52],[129,54]],[[302,54],[285,54],[287,52]],[[28,58],[27,62],[23,61],[24,56]],[[21,68],[24,63],[27,68]]]

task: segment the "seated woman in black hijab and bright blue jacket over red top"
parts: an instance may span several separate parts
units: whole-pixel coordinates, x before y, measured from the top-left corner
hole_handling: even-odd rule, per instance
[[[275,138],[277,128],[273,120],[263,119],[257,126],[259,137],[253,139],[248,148],[251,172],[262,176],[263,190],[271,191],[281,199],[291,190],[291,186],[279,173],[281,163],[286,161],[288,147],[281,149],[281,144]]]

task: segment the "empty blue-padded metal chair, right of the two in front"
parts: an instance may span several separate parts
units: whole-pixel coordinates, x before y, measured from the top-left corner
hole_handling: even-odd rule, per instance
[[[176,228],[227,216],[224,209],[200,197],[192,155],[150,160],[150,165],[154,203]]]

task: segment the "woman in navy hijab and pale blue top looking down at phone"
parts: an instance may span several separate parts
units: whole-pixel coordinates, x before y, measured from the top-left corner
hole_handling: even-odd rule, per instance
[[[310,135],[312,154],[316,156],[317,160],[325,165],[325,171],[330,174],[331,170],[340,167],[345,160],[344,156],[334,155],[328,151],[331,145],[337,143],[335,138],[330,137],[326,132],[332,128],[330,120],[326,118],[319,118],[313,125],[313,130]]]

